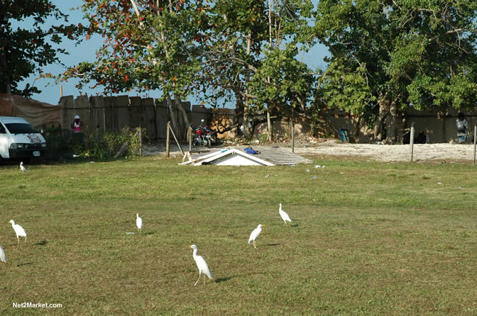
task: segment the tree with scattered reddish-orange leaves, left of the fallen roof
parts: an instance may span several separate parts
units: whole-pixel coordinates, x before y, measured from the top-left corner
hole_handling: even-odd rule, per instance
[[[198,47],[192,45],[200,23],[198,4],[85,0],[86,39],[99,34],[104,45],[97,50],[97,60],[79,62],[58,79],[79,78],[79,89],[93,81],[106,93],[162,91],[172,127],[183,139],[189,121],[181,100],[192,93],[200,65]]]

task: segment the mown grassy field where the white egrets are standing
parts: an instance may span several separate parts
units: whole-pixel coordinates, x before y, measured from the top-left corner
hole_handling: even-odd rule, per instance
[[[477,314],[476,167],[178,162],[0,166],[0,314]]]

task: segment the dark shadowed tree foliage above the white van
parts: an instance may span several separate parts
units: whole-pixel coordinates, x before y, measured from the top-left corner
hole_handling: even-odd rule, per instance
[[[64,37],[73,40],[81,26],[45,27],[48,18],[67,22],[49,0],[4,0],[0,2],[0,93],[31,96],[41,92],[35,86],[18,89],[18,83],[31,74],[41,73],[41,67],[59,63],[59,54],[67,54],[60,47]],[[31,28],[13,29],[11,21],[30,21]],[[45,74],[49,77],[50,74]]]

